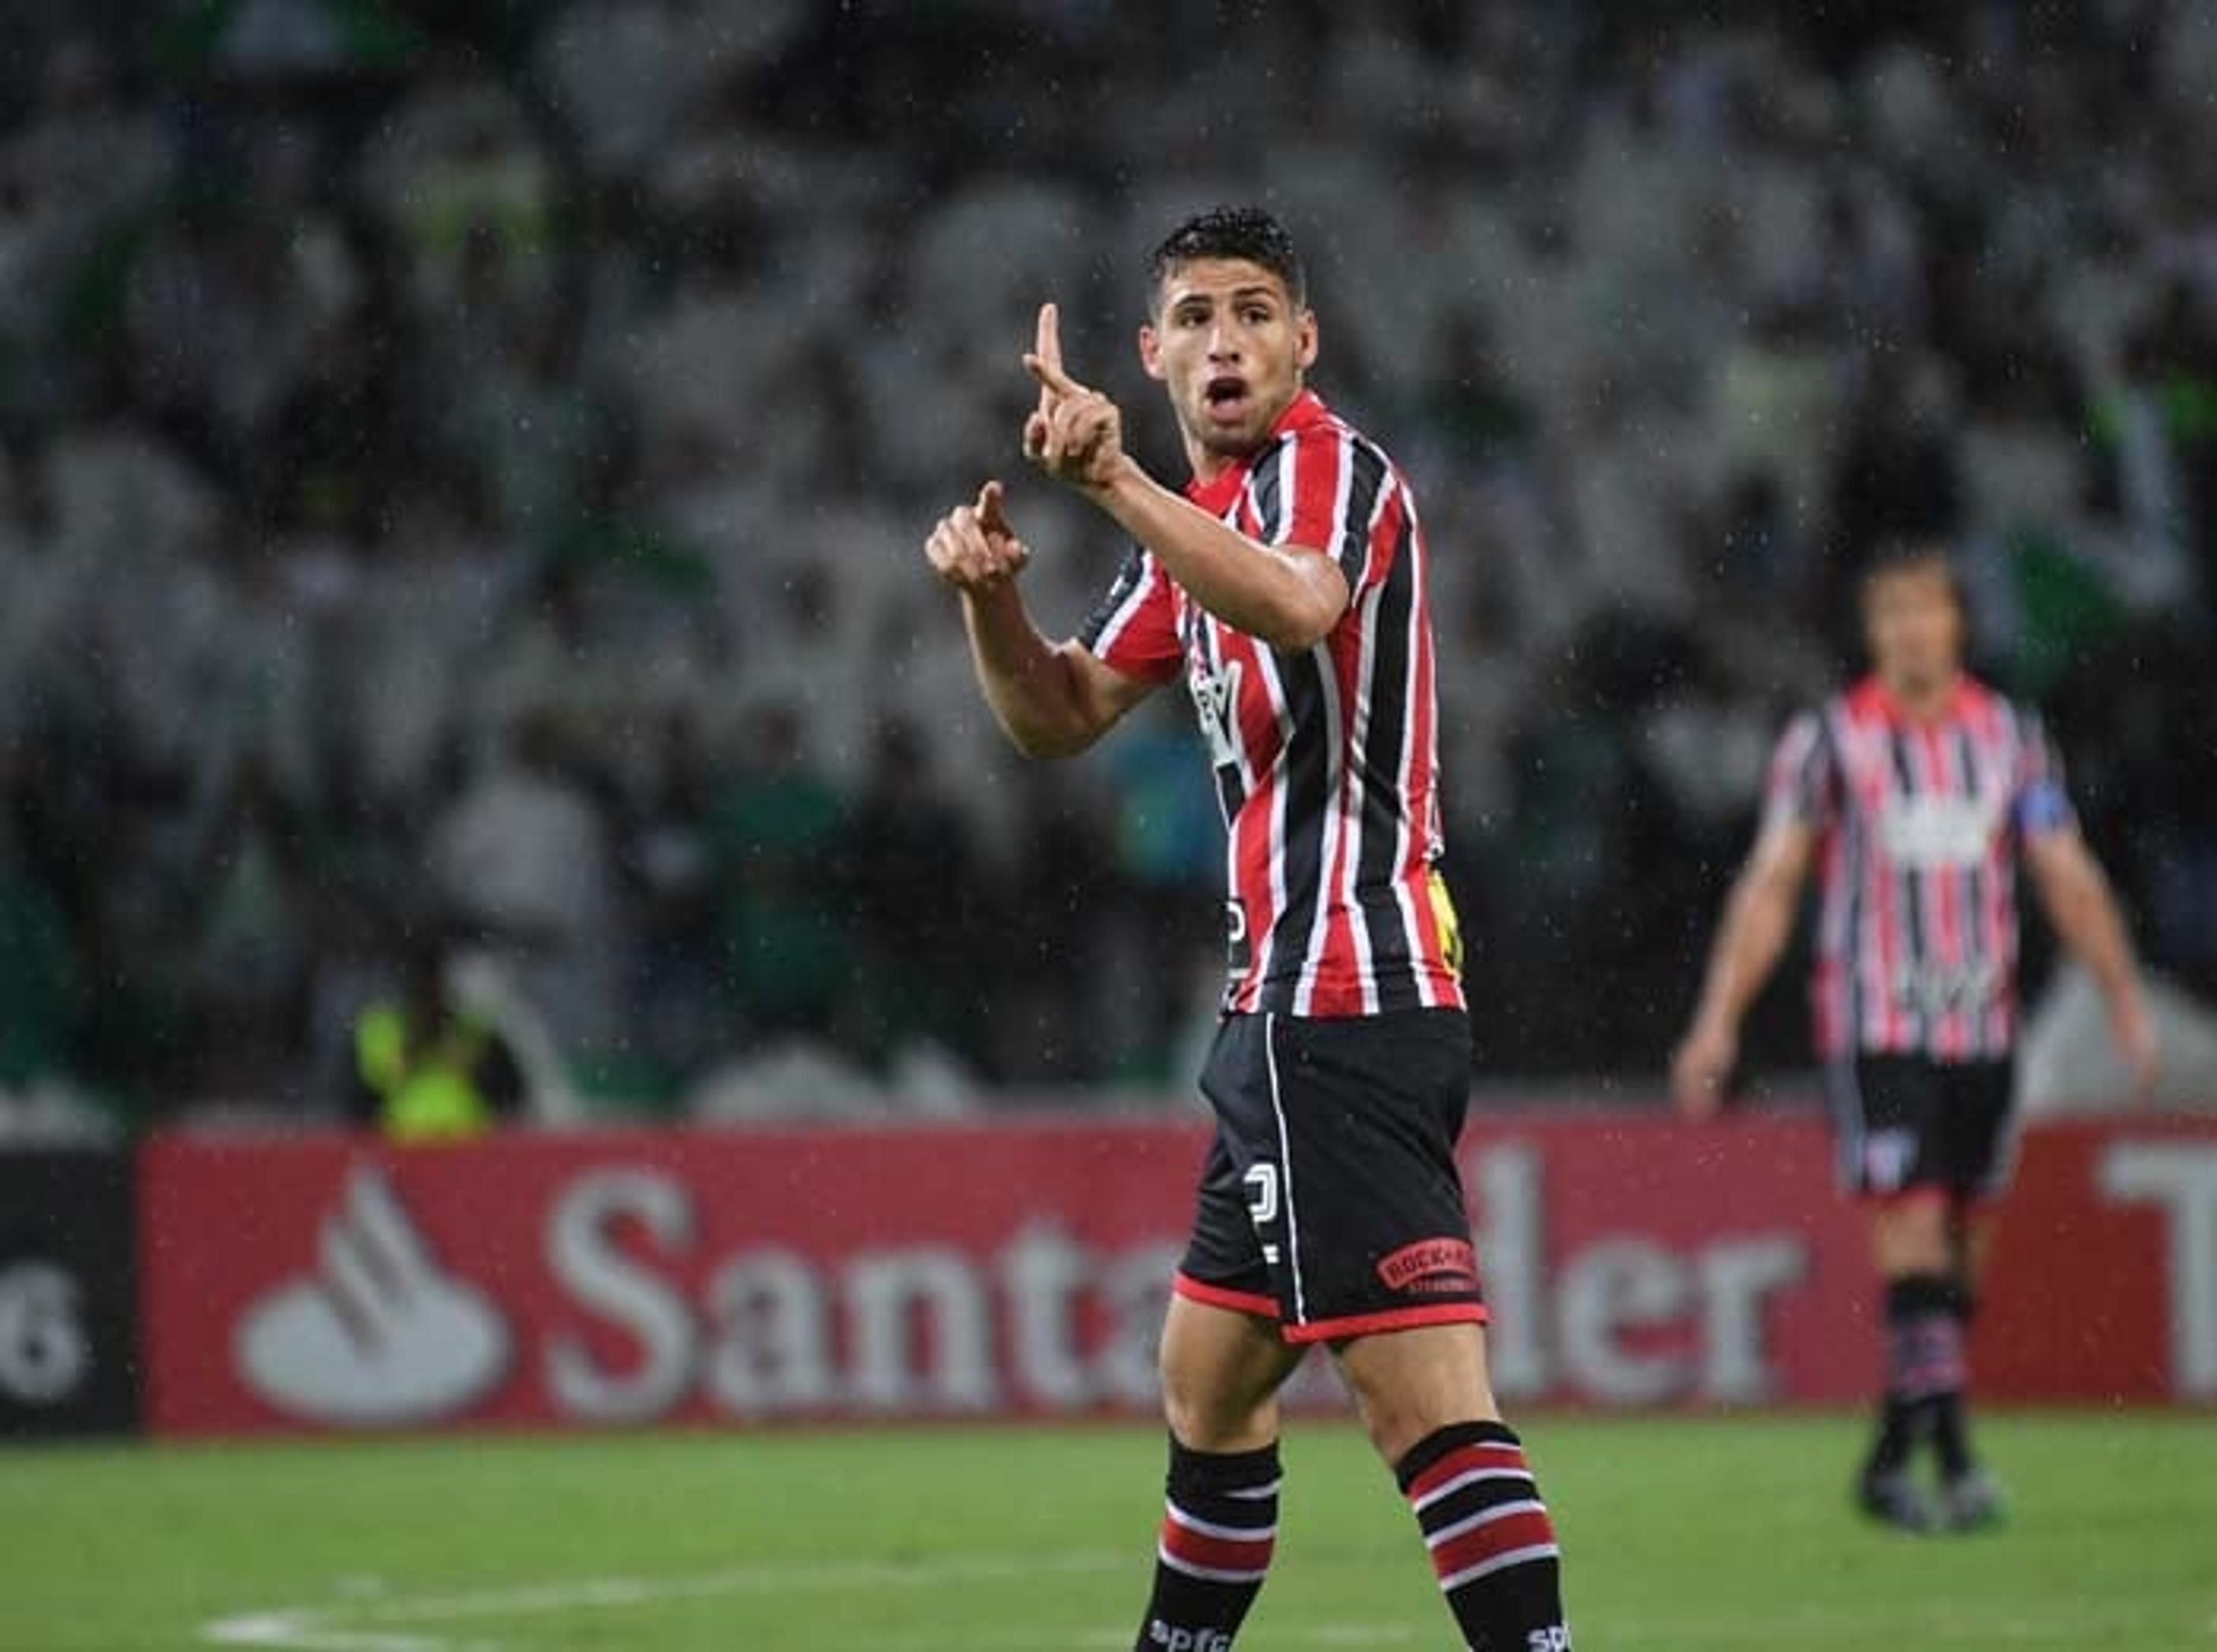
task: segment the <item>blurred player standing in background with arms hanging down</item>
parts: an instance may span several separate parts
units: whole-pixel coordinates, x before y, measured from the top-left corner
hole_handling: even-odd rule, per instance
[[[2011,1156],[2020,861],[2142,1085],[2157,1052],[2124,923],[2037,717],[1962,669],[1942,547],[1878,551],[1862,620],[1873,673],[1796,717],[1778,746],[1672,1083],[1685,1114],[1716,1112],[1740,1019],[1816,866],[1816,1043],[1840,1180],[1869,1200],[1884,1280],[1887,1382],[1858,1501],[1907,1530],[1971,1528],[2000,1512],[1971,1455],[1964,1342]],[[1938,1504],[1911,1473],[1922,1442]]]

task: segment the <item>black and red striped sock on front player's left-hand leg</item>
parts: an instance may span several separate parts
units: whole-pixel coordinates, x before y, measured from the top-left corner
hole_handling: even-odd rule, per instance
[[[1171,1439],[1155,1592],[1137,1652],[1230,1652],[1277,1546],[1277,1446],[1191,1450]]]

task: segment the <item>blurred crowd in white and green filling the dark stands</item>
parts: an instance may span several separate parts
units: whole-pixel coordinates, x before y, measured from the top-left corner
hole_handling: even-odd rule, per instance
[[[1224,199],[1426,509],[1488,1074],[1656,1090],[1891,531],[2217,990],[2217,7],[18,0],[0,1087],[339,1114],[423,970],[554,1114],[1184,1085],[1191,713],[1024,766],[920,540],[1077,624],[1018,352],[1177,478]]]

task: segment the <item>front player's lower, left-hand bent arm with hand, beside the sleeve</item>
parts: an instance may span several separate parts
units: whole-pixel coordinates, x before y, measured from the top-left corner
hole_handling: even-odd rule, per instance
[[[924,556],[960,593],[978,686],[1026,757],[1084,751],[1153,691],[1077,642],[1049,642],[1033,622],[1015,585],[1031,549],[1009,527],[1000,483],[942,516]]]

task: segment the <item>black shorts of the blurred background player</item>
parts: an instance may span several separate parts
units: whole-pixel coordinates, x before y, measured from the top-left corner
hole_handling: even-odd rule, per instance
[[[1840,1185],[1864,1198],[1993,1198],[2015,1158],[2015,1063],[1860,1054],[1827,1072]]]

